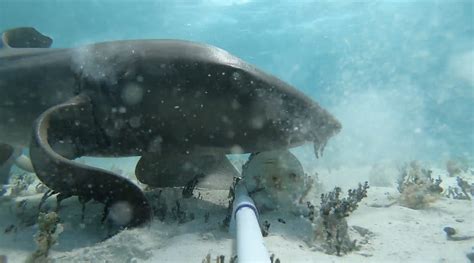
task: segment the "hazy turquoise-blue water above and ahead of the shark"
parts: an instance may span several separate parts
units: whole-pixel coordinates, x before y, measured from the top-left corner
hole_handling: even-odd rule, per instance
[[[0,0],[0,30],[53,47],[137,38],[216,45],[332,112],[327,162],[474,156],[473,1]]]

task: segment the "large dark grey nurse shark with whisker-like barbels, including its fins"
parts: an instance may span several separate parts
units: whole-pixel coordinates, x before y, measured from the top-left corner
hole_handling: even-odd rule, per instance
[[[294,87],[214,46],[183,40],[51,44],[34,28],[2,35],[0,161],[11,160],[15,147],[29,147],[46,186],[101,202],[109,215],[118,209],[123,227],[152,218],[141,189],[75,158],[140,156],[139,181],[183,186],[198,174],[234,175],[226,154],[311,142],[318,156],[341,129]]]

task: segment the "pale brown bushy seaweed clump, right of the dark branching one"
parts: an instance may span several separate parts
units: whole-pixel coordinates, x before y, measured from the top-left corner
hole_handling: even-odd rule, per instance
[[[423,209],[441,196],[442,180],[440,177],[433,179],[431,170],[421,167],[416,161],[400,167],[399,170],[397,189],[401,193],[400,205],[412,209]]]

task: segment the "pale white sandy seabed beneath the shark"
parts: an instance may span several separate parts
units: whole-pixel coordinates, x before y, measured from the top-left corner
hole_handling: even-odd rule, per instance
[[[130,167],[120,167],[128,171]],[[332,189],[337,177],[340,185],[356,187],[367,178],[368,168],[344,167],[320,172],[325,191]],[[130,170],[131,173],[132,170]],[[437,177],[441,171],[435,171]],[[124,174],[127,174],[126,172]],[[342,175],[346,174],[346,175]],[[364,176],[365,174],[365,176]],[[472,178],[471,175],[469,178]],[[454,178],[443,177],[443,184],[453,184]],[[454,180],[454,181],[453,181]],[[472,180],[471,180],[472,181]],[[175,204],[178,190],[163,192],[168,208]],[[196,189],[202,200],[180,199],[182,210],[194,219],[178,224],[168,214],[165,221],[157,218],[146,227],[130,229],[105,239],[107,229],[100,224],[103,206],[88,204],[85,220],[81,223],[81,206],[76,198],[65,200],[60,210],[64,232],[53,246],[50,257],[54,262],[201,262],[210,253],[214,258],[225,255],[226,262],[235,255],[233,236],[223,227],[228,202],[227,191]],[[308,198],[315,198],[313,193]],[[474,240],[448,241],[443,228],[453,227],[459,235],[474,235],[474,205],[472,201],[441,198],[423,210],[413,210],[395,203],[398,196],[395,184],[391,187],[371,186],[368,197],[348,217],[350,226],[360,226],[373,234],[365,237],[359,251],[341,257],[327,255],[310,246],[311,224],[308,220],[278,211],[262,213],[261,220],[271,226],[265,244],[281,262],[469,262]],[[34,219],[40,194],[0,200],[0,255],[8,262],[23,262],[35,250],[34,234],[37,225],[21,226],[20,222]],[[28,200],[25,209],[18,208],[21,200]],[[314,200],[314,204],[319,201]],[[51,198],[46,206],[54,207]],[[392,205],[391,205],[392,204]],[[20,211],[24,211],[22,214]],[[209,213],[208,220],[205,220]],[[284,221],[285,223],[279,222]],[[16,230],[5,232],[14,225]],[[360,239],[355,231],[351,237]],[[364,239],[364,238],[362,238]]]

